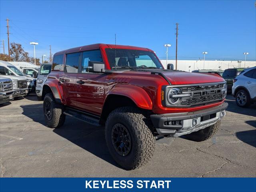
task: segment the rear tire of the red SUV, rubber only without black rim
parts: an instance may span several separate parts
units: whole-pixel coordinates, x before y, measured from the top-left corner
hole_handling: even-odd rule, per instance
[[[52,109],[52,118],[50,120],[47,118],[45,112],[46,102],[50,103]],[[59,128],[64,124],[66,116],[63,114],[63,110],[63,105],[56,103],[52,93],[47,93],[44,96],[44,119],[48,127]]]

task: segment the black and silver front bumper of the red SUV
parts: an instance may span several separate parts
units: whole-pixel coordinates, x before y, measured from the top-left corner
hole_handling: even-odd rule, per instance
[[[194,112],[150,115],[160,135],[179,137],[215,124],[226,114],[228,103]]]

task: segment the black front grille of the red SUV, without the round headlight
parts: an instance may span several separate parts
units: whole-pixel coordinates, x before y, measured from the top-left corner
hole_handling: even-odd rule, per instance
[[[182,94],[188,94],[181,98],[178,105],[180,107],[186,106],[199,106],[203,104],[214,103],[223,100],[226,97],[225,82],[211,83],[211,84],[197,84],[197,85],[179,85],[179,86],[167,86],[166,97],[168,96],[168,90],[172,87],[180,88]],[[175,106],[168,104],[166,106]]]

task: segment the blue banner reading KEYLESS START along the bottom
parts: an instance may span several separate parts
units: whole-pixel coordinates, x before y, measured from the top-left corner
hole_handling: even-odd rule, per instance
[[[0,192],[255,192],[256,178],[0,178]]]

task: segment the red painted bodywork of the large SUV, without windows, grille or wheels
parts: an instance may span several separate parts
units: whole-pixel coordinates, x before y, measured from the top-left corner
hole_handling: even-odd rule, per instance
[[[93,44],[58,52],[55,55],[64,54],[64,64],[66,60],[65,54],[100,49],[105,68],[110,69],[105,52],[106,48],[115,48],[115,45]],[[133,46],[116,45],[116,48],[153,52],[147,48]],[[173,85],[224,81],[222,77],[215,74],[164,72],[164,75]],[[60,78],[64,78],[67,81],[60,83]],[[83,80],[85,83],[80,85],[76,83],[78,80]],[[224,100],[222,100],[221,102],[214,104],[206,104],[204,106],[191,108],[165,107],[161,104],[161,88],[165,85],[168,85],[168,82],[160,75],[151,74],[151,72],[130,70],[111,74],[66,73],[64,71],[52,70],[48,75],[48,80],[44,84],[44,86],[49,86],[51,89],[52,87],[55,87],[58,90],[62,104],[97,115],[101,114],[106,98],[112,94],[126,96],[139,108],[152,110],[155,114],[191,112],[218,106],[224,102]]]

